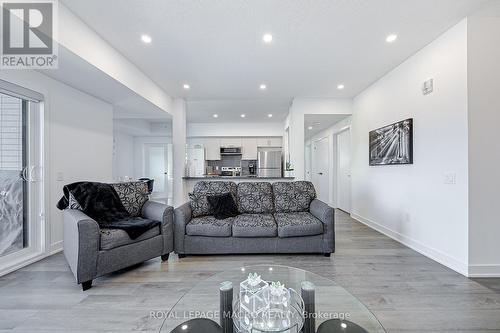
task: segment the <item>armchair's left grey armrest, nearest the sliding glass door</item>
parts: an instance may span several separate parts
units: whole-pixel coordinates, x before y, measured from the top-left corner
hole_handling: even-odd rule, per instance
[[[97,274],[100,231],[96,221],[75,209],[66,209],[64,218],[64,256],[77,283],[91,281]]]

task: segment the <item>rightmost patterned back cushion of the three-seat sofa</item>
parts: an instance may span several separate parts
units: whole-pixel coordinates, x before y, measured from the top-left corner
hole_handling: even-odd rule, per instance
[[[276,182],[273,194],[277,213],[307,212],[311,201],[316,198],[314,185],[307,181]]]

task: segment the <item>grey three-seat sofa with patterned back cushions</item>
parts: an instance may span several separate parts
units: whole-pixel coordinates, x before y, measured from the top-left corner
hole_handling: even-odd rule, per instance
[[[240,215],[217,220],[207,195],[230,192]],[[200,181],[174,210],[174,251],[187,254],[335,252],[334,209],[310,182]]]

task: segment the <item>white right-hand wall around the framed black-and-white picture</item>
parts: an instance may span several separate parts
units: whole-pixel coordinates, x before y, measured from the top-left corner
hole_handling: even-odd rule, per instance
[[[434,78],[434,92],[422,83]],[[368,132],[414,118],[414,164],[368,165]],[[352,215],[467,273],[467,21],[354,99]],[[444,184],[446,173],[456,184]]]

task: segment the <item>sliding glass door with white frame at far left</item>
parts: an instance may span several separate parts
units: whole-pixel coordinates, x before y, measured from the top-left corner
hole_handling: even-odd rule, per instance
[[[40,101],[2,89],[2,83],[3,81],[0,82],[0,273],[43,250]]]

